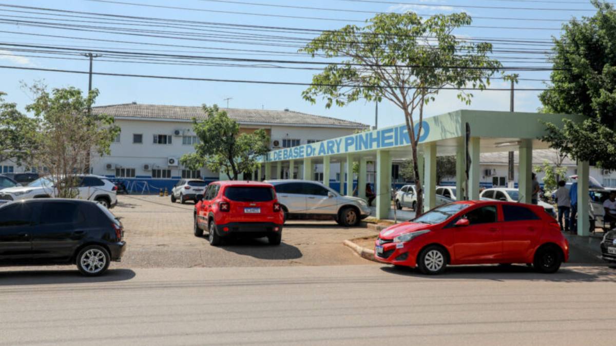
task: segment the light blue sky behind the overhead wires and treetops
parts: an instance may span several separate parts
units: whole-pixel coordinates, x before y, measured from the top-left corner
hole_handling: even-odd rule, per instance
[[[0,4],[13,4],[20,6],[46,7],[52,9],[75,10],[83,12],[97,12],[103,14],[118,14],[118,15],[134,15],[140,17],[157,17],[170,18],[179,20],[194,20],[200,22],[222,22],[235,23],[245,25],[264,25],[264,26],[284,26],[294,28],[310,28],[310,29],[335,29],[344,26],[348,23],[361,25],[361,23],[348,22],[348,20],[365,20],[371,17],[371,14],[360,12],[341,12],[332,10],[312,10],[312,9],[292,9],[278,8],[268,6],[251,6],[248,4],[229,3],[226,1],[204,1],[204,0],[118,0],[120,2],[133,2],[138,4],[150,4],[161,6],[186,7],[192,10],[168,9],[168,8],[153,8],[141,6],[129,6],[119,3],[103,3],[92,2],[87,0],[64,0],[64,1],[43,1],[43,0],[0,0]],[[495,28],[461,28],[456,31],[460,36],[485,37],[485,38],[516,38],[529,40],[545,40],[551,38],[552,35],[559,34],[561,22],[558,20],[568,20],[573,16],[580,18],[583,15],[593,15],[594,10],[590,2],[577,0],[551,0],[551,1],[488,1],[488,0],[401,0],[401,1],[384,1],[390,3],[375,2],[353,2],[339,0],[304,0],[304,1],[275,1],[275,0],[245,0],[240,2],[252,2],[259,4],[278,4],[288,6],[306,6],[306,7],[323,7],[327,9],[346,9],[354,11],[368,12],[402,12],[405,10],[413,10],[419,14],[436,14],[436,13],[452,13],[465,11],[473,17],[508,17],[508,18],[525,18],[525,20],[496,20],[496,19],[479,19],[473,21],[474,26],[494,26]],[[400,2],[401,4],[394,4]],[[569,3],[571,2],[571,3]],[[475,7],[471,7],[475,6]],[[515,7],[516,9],[485,9],[477,8],[477,6],[492,6],[492,7]],[[519,7],[534,7],[550,10],[522,10]],[[6,17],[8,15],[28,16],[31,14],[20,14],[16,12],[7,12],[10,7],[0,6],[0,18],[15,18]],[[197,10],[200,9],[200,10]],[[573,11],[561,9],[582,9],[586,11]],[[270,14],[270,15],[288,15],[296,17],[322,17],[333,18],[337,20],[314,20],[302,18],[279,18],[267,17],[260,15],[247,14],[225,14],[220,12],[208,11],[231,11],[245,12],[249,14]],[[551,21],[533,21],[535,19],[549,19]],[[103,25],[104,26],[104,25]],[[541,28],[533,30],[516,30],[509,27],[532,27]],[[545,30],[548,29],[548,30]],[[555,30],[549,30],[555,29]],[[159,30],[154,28],[153,30]],[[163,30],[163,29],[160,29]],[[166,29],[176,30],[176,29]],[[215,30],[215,29],[214,29]],[[292,47],[270,47],[256,46],[253,44],[232,44],[229,42],[213,42],[225,41],[225,39],[216,39],[210,36],[213,41],[192,41],[184,39],[164,39],[164,38],[145,38],[136,36],[127,36],[123,34],[112,33],[94,33],[75,30],[62,30],[57,28],[36,28],[30,26],[19,25],[15,23],[6,23],[0,21],[0,31],[13,31],[15,33],[0,32],[0,42],[4,43],[20,43],[31,45],[47,45],[47,46],[79,46],[84,50],[88,47],[99,47],[99,49],[166,49],[171,50],[167,54],[172,54],[173,50],[182,51],[178,54],[198,54],[198,55],[216,55],[222,57],[254,57],[254,58],[282,58],[294,60],[310,60],[307,56],[299,57],[271,57],[264,55],[235,55],[233,53],[224,52],[221,50],[213,50],[211,48],[231,48],[231,49],[264,49],[277,50],[285,52],[295,52],[296,48]],[[111,42],[95,42],[76,39],[60,39],[49,37],[28,36],[30,34],[49,34],[60,36],[74,36],[88,39],[111,39],[122,41],[138,41],[145,43],[157,44],[174,44],[197,46],[201,48],[169,48],[144,46],[137,44],[117,44]],[[267,33],[265,33],[267,34]],[[309,38],[309,35],[302,35],[304,38]],[[254,41],[257,42],[257,41]],[[522,46],[517,46],[522,47]],[[524,46],[524,49],[541,49],[545,50],[549,46]],[[500,49],[506,49],[507,46],[500,46]],[[20,57],[23,53],[10,52],[6,48],[0,47],[0,65],[7,66],[25,66],[38,68],[54,68],[66,70],[82,70],[87,71],[88,63],[85,58],[82,60],[60,60],[47,59],[36,57]],[[496,54],[495,54],[496,55]],[[540,60],[545,60],[545,56],[541,54],[498,54],[499,56],[507,57],[531,57],[533,62],[507,62],[505,66],[550,66],[546,63],[540,63]],[[105,57],[99,60],[104,60]],[[507,59],[501,59],[507,60]],[[180,66],[180,65],[150,65],[150,64],[132,64],[118,62],[95,61],[94,70],[100,72],[113,73],[130,73],[130,74],[157,74],[165,76],[184,76],[198,78],[219,78],[219,79],[251,79],[251,80],[266,80],[266,81],[291,81],[291,82],[310,82],[314,71],[306,70],[282,70],[282,69],[266,69],[266,68],[239,68],[237,66]],[[0,91],[6,92],[6,97],[10,102],[16,102],[23,109],[29,103],[30,95],[20,88],[20,81],[31,83],[36,80],[44,79],[49,87],[65,87],[75,86],[80,89],[87,90],[87,75],[85,74],[65,74],[52,73],[48,71],[24,71],[24,70],[7,70],[0,69]],[[548,79],[549,73],[545,71],[537,72],[521,72],[521,78],[532,79]],[[272,86],[265,84],[238,84],[238,83],[223,83],[223,82],[204,82],[204,81],[173,81],[163,79],[142,79],[142,78],[125,78],[112,76],[94,76],[94,87],[100,91],[97,105],[108,105],[115,103],[155,103],[168,105],[201,105],[206,103],[211,105],[217,103],[225,105],[224,99],[232,97],[230,107],[234,108],[267,108],[274,110],[282,110],[290,108],[291,110],[303,111],[317,115],[333,116],[335,118],[348,119],[352,121],[360,121],[365,124],[374,124],[374,103],[366,103],[363,101],[355,102],[346,107],[332,107],[326,109],[323,102],[317,102],[312,105],[304,101],[301,97],[301,92],[305,87],[302,86]],[[493,81],[492,87],[508,87],[508,84],[503,81]],[[540,88],[543,84],[538,81],[521,81],[517,84],[519,88]],[[535,91],[519,91],[516,93],[516,111],[535,111],[540,107],[540,102],[537,99],[538,92]],[[426,109],[426,115],[437,115],[446,111],[452,111],[460,108],[477,109],[477,110],[509,110],[509,92],[501,91],[484,91],[474,92],[474,99],[470,106],[456,100],[455,92],[444,91],[437,97],[435,103],[429,105]],[[394,105],[387,102],[379,105],[379,127],[389,126],[403,123],[402,111]]]

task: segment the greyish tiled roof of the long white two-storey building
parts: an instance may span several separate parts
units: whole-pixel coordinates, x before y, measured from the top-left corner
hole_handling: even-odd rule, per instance
[[[277,110],[245,110],[240,108],[221,108],[227,111],[229,118],[235,119],[240,124],[273,124],[286,126],[328,126],[350,127],[363,129],[368,125],[355,123],[327,116],[299,113],[297,111]],[[95,114],[106,113],[115,117],[123,118],[147,118],[147,119],[179,119],[191,120],[192,118],[204,119],[203,108],[196,106],[169,106],[169,105],[144,105],[141,103],[123,103],[120,105],[108,105],[92,107]]]

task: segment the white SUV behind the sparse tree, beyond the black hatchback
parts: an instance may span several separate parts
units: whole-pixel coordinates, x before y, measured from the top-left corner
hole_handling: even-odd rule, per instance
[[[87,199],[112,208],[118,203],[116,192],[118,188],[107,178],[99,175],[78,174],[78,186],[75,188],[75,196],[78,199]],[[0,191],[0,201],[20,201],[30,198],[54,198],[58,191],[51,177],[41,177],[23,187],[5,188]]]

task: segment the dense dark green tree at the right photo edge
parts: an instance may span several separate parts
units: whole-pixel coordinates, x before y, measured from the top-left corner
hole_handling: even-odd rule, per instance
[[[592,1],[593,17],[571,20],[554,38],[553,87],[539,95],[543,111],[587,117],[581,124],[546,123],[543,140],[573,159],[616,169],[616,11]]]

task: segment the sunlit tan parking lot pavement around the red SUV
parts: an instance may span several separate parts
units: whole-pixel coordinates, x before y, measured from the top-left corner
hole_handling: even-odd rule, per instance
[[[262,238],[213,247],[207,238],[193,235],[193,207],[192,202],[172,204],[169,197],[118,196],[118,206],[111,211],[121,218],[128,246],[122,262],[111,268],[366,264],[342,241],[375,234],[333,221],[294,221],[285,224],[280,246]]]

